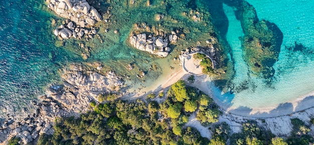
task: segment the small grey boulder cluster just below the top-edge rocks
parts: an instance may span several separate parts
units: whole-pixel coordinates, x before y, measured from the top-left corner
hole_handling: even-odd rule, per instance
[[[59,36],[60,39],[68,39],[70,37],[77,39],[81,39],[82,37],[93,38],[96,33],[97,30],[95,28],[80,27],[70,20],[68,23],[62,24],[54,30],[54,34]]]

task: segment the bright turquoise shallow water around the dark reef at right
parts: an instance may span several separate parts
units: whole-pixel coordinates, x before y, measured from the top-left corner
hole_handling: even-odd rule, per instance
[[[235,59],[235,77],[233,85],[241,85],[241,80],[248,80],[240,92],[221,93],[214,88],[214,93],[221,101],[232,108],[267,108],[280,103],[292,101],[299,96],[311,95],[314,91],[314,3],[311,0],[247,0],[257,11],[259,19],[274,22],[283,33],[283,43],[279,60],[274,64],[275,74],[272,84],[266,85],[264,80],[254,75],[247,75],[247,66],[237,65],[242,56],[239,55],[240,35],[239,21],[235,19],[232,8],[224,5],[224,11],[229,20],[227,40],[232,48]],[[292,4],[293,3],[293,4]],[[302,44],[302,50],[288,50],[294,42]],[[242,63],[243,64],[243,63]],[[239,73],[239,71],[241,73]],[[223,95],[222,95],[223,94]],[[232,98],[232,99],[230,99]],[[309,107],[309,106],[308,106]]]

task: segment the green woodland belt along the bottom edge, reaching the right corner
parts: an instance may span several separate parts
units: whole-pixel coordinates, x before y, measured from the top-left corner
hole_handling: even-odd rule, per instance
[[[160,104],[146,99],[143,100],[147,102],[141,99],[115,100],[99,103],[94,111],[81,114],[78,118],[57,118],[55,133],[41,134],[38,144],[286,145],[313,142],[308,126],[297,118],[291,119],[293,130],[287,140],[275,137],[255,121],[243,123],[239,133],[231,134],[226,122],[217,123],[221,111],[211,97],[196,88],[182,85],[185,84],[182,80],[178,82],[171,86],[166,100]],[[173,89],[178,94],[184,90],[185,100],[178,101]],[[212,139],[202,137],[196,128],[184,127],[192,113],[196,113],[203,125],[210,126]]]

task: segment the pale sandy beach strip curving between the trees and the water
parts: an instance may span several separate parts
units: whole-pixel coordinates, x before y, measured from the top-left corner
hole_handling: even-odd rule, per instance
[[[163,74],[156,78],[152,85],[141,88],[136,94],[131,96],[131,98],[137,98],[140,96],[147,95],[151,92],[158,93],[161,90],[171,86],[173,83],[177,82],[180,79],[187,80],[190,74],[185,71],[182,67],[175,70],[167,70],[164,71]],[[188,85],[194,86],[209,96],[212,96],[214,101],[226,112],[239,116],[245,117],[256,117],[256,118],[269,118],[269,117],[277,117],[283,115],[289,115],[294,112],[302,111],[304,109],[308,109],[314,106],[314,92],[309,93],[304,96],[300,96],[289,101],[279,103],[277,105],[267,106],[267,107],[234,107],[230,106],[220,100],[217,96],[215,96],[211,90],[211,86],[214,85],[211,82],[211,78],[208,75],[199,75],[195,76],[194,83],[188,83]]]

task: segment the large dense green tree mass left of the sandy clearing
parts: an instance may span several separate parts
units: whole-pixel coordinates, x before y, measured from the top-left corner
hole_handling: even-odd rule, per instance
[[[186,86],[183,80],[171,86],[169,92],[160,104],[154,100],[115,100],[96,104],[94,111],[79,118],[57,118],[55,133],[41,135],[39,144],[209,144],[197,129],[183,126],[191,113],[198,114],[201,98],[207,111],[216,109],[217,119],[221,112],[212,98]],[[179,96],[182,94],[185,97]]]

